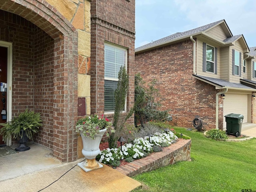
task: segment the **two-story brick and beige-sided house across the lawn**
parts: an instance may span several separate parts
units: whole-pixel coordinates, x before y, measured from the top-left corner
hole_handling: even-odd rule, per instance
[[[176,126],[190,128],[200,116],[206,129],[223,129],[230,113],[256,123],[256,50],[225,20],[136,48],[135,66],[146,82],[158,80],[157,99]]]

